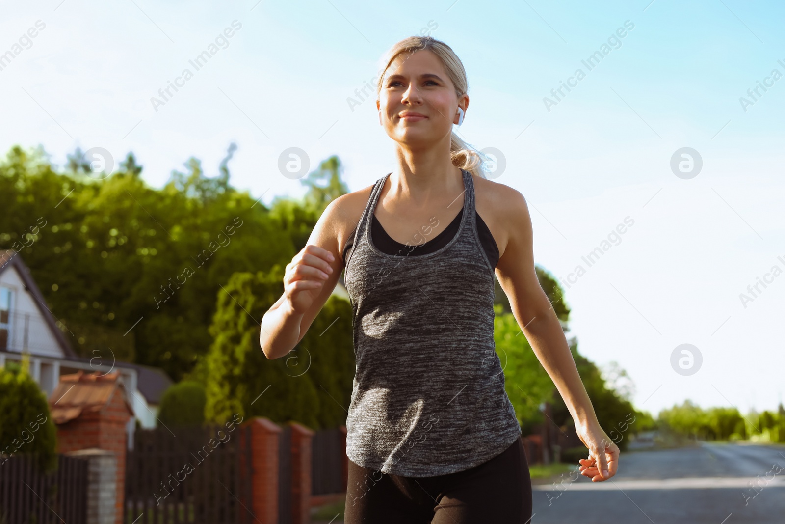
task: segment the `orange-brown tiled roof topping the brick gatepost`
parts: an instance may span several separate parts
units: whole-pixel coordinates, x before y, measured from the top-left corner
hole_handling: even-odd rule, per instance
[[[61,375],[60,383],[49,398],[49,410],[54,423],[66,423],[79,418],[82,413],[100,412],[111,401],[115,390],[120,391],[128,412],[133,415],[128,398],[120,387],[119,376],[119,372],[87,375],[81,370],[71,375]]]

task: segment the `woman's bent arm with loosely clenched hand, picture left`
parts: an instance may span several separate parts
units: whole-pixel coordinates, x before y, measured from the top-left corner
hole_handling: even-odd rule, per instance
[[[283,295],[261,319],[259,344],[271,360],[294,349],[338,284],[344,266],[338,232],[346,220],[338,200],[327,205],[305,247],[287,264]]]

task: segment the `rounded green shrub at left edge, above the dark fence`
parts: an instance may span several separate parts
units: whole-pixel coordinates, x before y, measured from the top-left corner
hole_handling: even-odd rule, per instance
[[[0,464],[16,453],[38,456],[45,471],[57,467],[57,429],[46,394],[22,365],[0,369]]]

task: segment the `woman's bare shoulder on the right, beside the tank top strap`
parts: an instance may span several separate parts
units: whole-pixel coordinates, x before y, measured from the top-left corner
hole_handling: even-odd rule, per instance
[[[509,242],[509,227],[520,222],[516,217],[526,209],[526,200],[520,191],[501,182],[477,176],[472,180],[474,207],[491,231],[501,257]]]

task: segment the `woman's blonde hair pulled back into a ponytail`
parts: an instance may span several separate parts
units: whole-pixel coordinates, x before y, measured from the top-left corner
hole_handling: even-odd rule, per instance
[[[420,49],[429,49],[439,57],[447,70],[447,76],[450,77],[452,84],[455,86],[455,94],[458,97],[466,94],[469,90],[469,85],[466,81],[466,69],[463,68],[461,59],[458,58],[455,51],[444,42],[436,40],[436,38],[431,36],[410,36],[403,38],[400,42],[396,42],[382,58],[382,68],[380,68],[376,81],[377,100],[379,99],[379,93],[382,91],[385,71],[392,64],[392,61],[403,53],[407,53],[407,57],[411,57],[415,51]],[[484,162],[487,161],[487,156],[484,156],[463,141],[461,137],[455,134],[455,131],[451,131],[450,159],[454,166],[465,169],[480,178],[487,178],[484,170]]]

